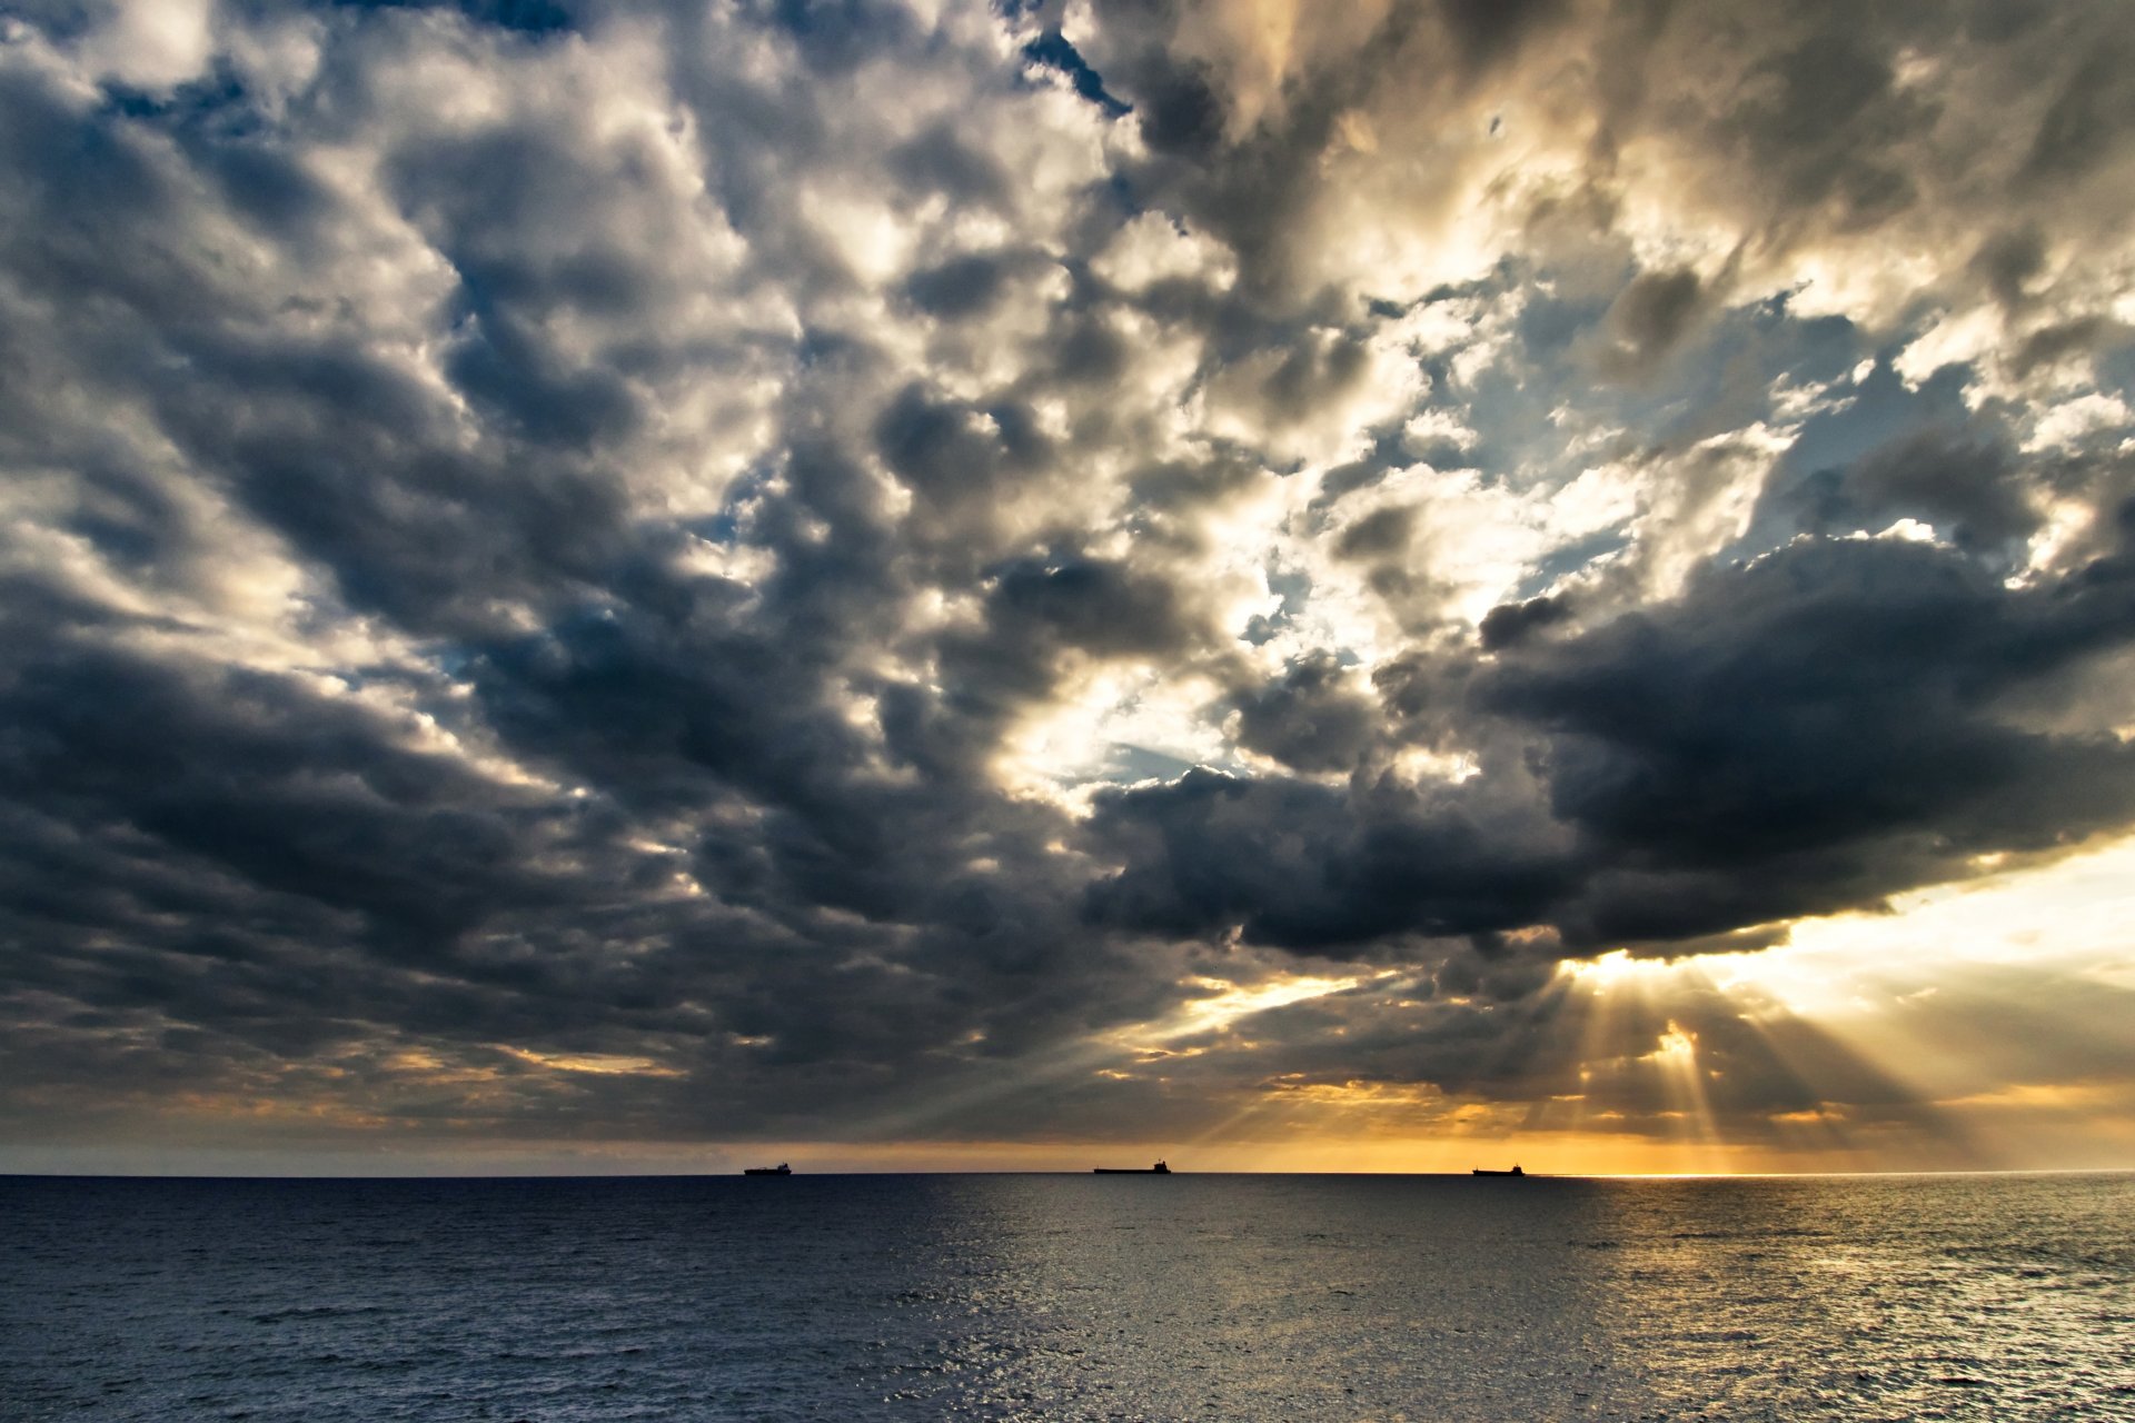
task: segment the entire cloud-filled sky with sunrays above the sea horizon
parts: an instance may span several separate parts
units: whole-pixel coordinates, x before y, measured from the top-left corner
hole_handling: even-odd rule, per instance
[[[0,1169],[2135,1167],[2114,0],[17,0]]]

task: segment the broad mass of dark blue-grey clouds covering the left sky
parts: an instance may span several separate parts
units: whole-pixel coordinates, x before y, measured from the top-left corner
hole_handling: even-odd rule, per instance
[[[775,17],[809,64],[833,68],[865,53],[865,19]],[[410,41],[406,30],[363,36],[350,43]],[[350,55],[327,81],[376,105],[371,79]],[[587,228],[617,196],[649,207],[645,188],[611,164],[643,173],[655,154],[500,124],[386,156],[384,192],[448,260],[440,371],[483,429],[470,444],[438,388],[380,358],[361,331],[335,335],[329,320],[327,335],[301,339],[290,331],[303,320],[246,311],[243,288],[190,273],[149,279],[154,262],[184,260],[152,233],[213,220],[184,207],[188,162],[228,173],[231,147],[175,151],[154,128],[53,102],[34,75],[9,96],[51,130],[34,151],[81,156],[79,169],[17,169],[30,203],[15,209],[13,273],[73,290],[60,339],[36,341],[17,324],[17,346],[90,363],[100,346],[145,335],[147,358],[105,363],[100,380],[154,412],[190,471],[329,576],[318,625],[333,627],[335,599],[346,599],[389,629],[446,636],[438,657],[450,672],[418,676],[410,706],[566,777],[512,789],[463,760],[470,745],[410,751],[418,728],[363,700],[391,687],[397,674],[386,668],[361,670],[357,698],[333,700],[305,676],[220,668],[211,653],[179,666],[132,640],[139,614],[81,602],[56,570],[23,580],[13,606],[28,617],[9,638],[9,781],[19,804],[38,811],[13,824],[11,862],[45,873],[11,894],[13,977],[96,1005],[53,1024],[64,1048],[38,1039],[47,1062],[75,1054],[83,1080],[139,1071],[132,1050],[90,1050],[94,1013],[105,1011],[145,1013],[167,1039],[169,1071],[209,1084],[233,1080],[235,1041],[265,1050],[250,1069],[271,1075],[380,1033],[457,1052],[525,1041],[628,1056],[660,1043],[660,1056],[675,1058],[662,1035],[687,1030],[762,1041],[739,1058],[702,1054],[705,1071],[734,1082],[756,1054],[845,1062],[907,1090],[927,1077],[914,1054],[952,1039],[1006,1052],[1050,1022],[1104,1016],[1065,986],[1102,984],[1106,956],[1070,943],[1070,913],[1044,911],[1059,898],[1048,883],[1057,873],[1033,841],[1061,834],[1055,817],[967,785],[976,749],[937,764],[884,747],[877,766],[843,713],[839,657],[895,638],[910,593],[907,574],[892,570],[877,482],[837,439],[798,435],[781,493],[745,512],[752,546],[773,559],[769,582],[745,589],[677,576],[675,535],[632,529],[621,471],[581,459],[636,439],[636,393],[662,371],[613,343],[606,361],[559,358],[549,337],[557,322],[630,322],[658,339],[670,273]],[[265,154],[269,169],[254,162],[254,179],[273,177],[273,149],[233,143]],[[954,149],[939,137],[901,151],[965,188],[984,171],[978,160],[948,162]],[[271,188],[278,235],[305,260],[325,260],[305,247],[327,241],[346,194],[297,177]],[[252,181],[233,198],[239,218],[254,218],[258,192]],[[90,226],[102,233],[98,256],[113,260],[88,260],[79,233]],[[969,279],[914,290],[954,303],[950,292]],[[976,314],[976,303],[965,307]],[[352,311],[344,301],[342,316],[361,326],[404,311]],[[683,358],[698,375],[734,365],[705,348]],[[965,435],[967,420],[993,433]],[[15,459],[70,459],[56,442],[90,439],[51,418],[17,429]],[[890,401],[882,442],[910,489],[950,521],[984,521],[989,484],[1042,461],[1012,410],[969,414],[918,395]],[[199,563],[184,540],[216,540],[226,514],[173,493],[184,489],[167,469],[88,465],[70,525],[122,565],[164,567],[188,553]],[[184,591],[201,595],[213,574],[194,570]],[[1003,657],[989,659],[980,644],[961,683],[980,702],[1018,695],[1021,674],[1003,674],[1016,659],[1174,636],[1161,580],[1142,574],[1065,559],[1010,561],[989,578]],[[64,619],[36,619],[41,608]],[[506,636],[525,610],[542,631]],[[173,638],[194,631],[190,617],[171,625]],[[995,691],[1001,676],[1006,691]],[[863,691],[884,708],[912,706],[899,685]],[[895,721],[888,710],[884,721]],[[920,766],[924,781],[892,785],[899,764]],[[662,817],[681,824],[670,830]],[[647,834],[675,843],[645,851],[636,841]],[[971,860],[989,868],[974,873]],[[719,898],[677,894],[675,877],[687,870],[709,875]],[[839,913],[880,928],[841,926]],[[194,922],[220,928],[186,928]],[[918,966],[929,956],[954,971],[954,986]],[[1072,975],[1063,956],[1074,958]],[[421,984],[408,977],[416,971]],[[331,1009],[318,988],[331,990]],[[1123,990],[1146,996],[1125,975]],[[719,1007],[683,1007],[698,998]],[[986,1033],[995,1013],[1001,1022]],[[839,1097],[865,1088],[837,1082]],[[638,1086],[653,1101],[617,1112],[630,1131],[758,1120],[741,1086],[709,1103]],[[549,1109],[538,1094],[519,1107]],[[662,1114],[675,1120],[662,1124]]]

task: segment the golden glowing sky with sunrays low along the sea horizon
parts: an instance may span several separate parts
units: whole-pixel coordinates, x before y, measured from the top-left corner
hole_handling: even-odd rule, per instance
[[[1565,1084],[1505,1101],[1448,1094],[1430,1082],[1294,1071],[1249,1082],[1228,1077],[1225,1088],[1219,1071],[1204,1088],[1213,1112],[1174,1137],[1146,1131],[1132,1141],[931,1137],[974,1105],[1093,1073],[1161,1080],[1176,1071],[1166,1060],[1208,1052],[1198,1058],[1206,1062],[1217,1048],[1230,1056],[1225,1071],[1232,1062],[1249,1069],[1253,1045],[1245,1028],[1277,1009],[1339,994],[1356,994],[1364,1007],[1411,996],[1413,1007],[1428,1007],[1407,975],[1300,973],[1189,979],[1185,986],[1202,996],[1172,1013],[1063,1043],[961,1092],[914,1099],[901,1116],[877,1116],[873,1126],[882,1135],[869,1144],[500,1139],[442,1148],[421,1133],[502,1126],[515,1094],[544,1092],[551,1084],[570,1090],[564,1084],[576,1075],[681,1073],[651,1056],[489,1045],[480,1052],[497,1056],[483,1060],[438,1043],[382,1052],[391,1094],[352,1094],[357,1077],[339,1069],[263,1071],[228,1090],[188,1094],[175,1112],[145,1120],[141,1141],[164,1156],[186,1150],[235,1156],[269,1152],[288,1141],[292,1124],[305,1124],[316,1133],[310,1150],[348,1150],[363,1169],[380,1171],[698,1171],[726,1169],[728,1161],[739,1169],[756,1156],[822,1171],[1078,1171],[1114,1161],[1132,1165],[1140,1156],[1166,1156],[1183,1171],[1465,1171],[1518,1161],[1535,1173],[1565,1176],[2135,1167],[2135,1071],[2041,1075],[1981,1067],[1983,1056],[2039,1043],[2018,1041],[2024,1020],[2009,1009],[2020,1005],[1966,1018],[1962,1003],[1962,975],[2022,971],[2028,975],[2022,981],[2060,975],[2056,981],[2077,992],[2097,986],[2092,996],[2112,1011],[2112,994],[2135,988],[2126,924],[2135,924],[2135,841],[1913,894],[1887,915],[1800,922],[1789,943],[1755,954],[1657,960],[1616,952],[1571,962],[1537,1001],[1548,1009],[1544,1020],[1576,1035]],[[2000,981],[1990,979],[1988,988]],[[2075,1030],[2065,1009],[2054,1011],[2062,1018],[2041,1022],[2033,1037]],[[1710,1075],[1717,1039],[1704,1024],[1712,1013],[1755,1035],[1815,1101],[1736,1118],[1729,1126],[1717,1109],[1725,1092]],[[1339,1022],[1330,1030],[1337,1028]],[[1213,1045],[1185,1041],[1196,1037]],[[500,1071],[500,1058],[540,1071],[515,1077]],[[1862,1071],[1892,1084],[1898,1101],[1849,1105],[1840,1094],[1860,1092]],[[450,1088],[468,1114],[440,1122],[401,1109],[433,1088]],[[1635,1101],[1648,1103],[1646,1109],[1627,1109]],[[1764,1135],[1740,1135],[1746,1129]]]

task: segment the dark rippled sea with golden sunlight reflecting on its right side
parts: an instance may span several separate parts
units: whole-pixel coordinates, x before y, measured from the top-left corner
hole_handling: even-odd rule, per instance
[[[2135,1178],[0,1178],[4,1419],[2135,1419]]]

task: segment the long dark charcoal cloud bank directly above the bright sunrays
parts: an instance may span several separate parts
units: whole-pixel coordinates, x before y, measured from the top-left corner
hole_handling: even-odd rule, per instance
[[[1497,804],[1512,774],[1492,768],[1435,796],[1189,777],[1104,802],[1127,868],[1091,907],[1319,952],[1531,926],[1665,945],[2079,843],[2135,813],[2135,757],[2009,706],[2126,646],[2131,574],[2122,548],[2011,591],[1951,550],[1823,540],[1593,631],[1499,636],[1465,706],[1531,738],[1546,813]],[[1283,706],[1249,713],[1270,749]]]

